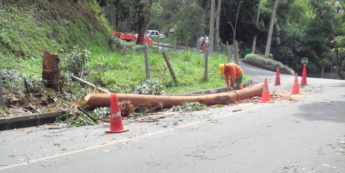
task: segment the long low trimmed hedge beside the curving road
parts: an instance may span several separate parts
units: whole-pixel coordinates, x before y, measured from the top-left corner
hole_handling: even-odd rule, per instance
[[[251,64],[256,67],[266,69],[266,70],[270,70],[272,72],[277,71],[277,68],[279,68],[279,71],[282,74],[289,74],[289,75],[295,74],[295,72],[292,69],[285,66],[281,62],[275,61],[270,58],[265,58],[263,55],[248,54],[243,59],[243,62]]]

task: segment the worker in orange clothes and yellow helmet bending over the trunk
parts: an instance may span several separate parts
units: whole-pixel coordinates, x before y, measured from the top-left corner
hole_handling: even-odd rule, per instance
[[[236,83],[237,89],[243,89],[242,85],[242,69],[236,63],[219,64],[218,69],[220,73],[224,74],[225,83],[227,85],[227,90],[231,91]],[[231,78],[231,85],[229,85],[229,78]]]

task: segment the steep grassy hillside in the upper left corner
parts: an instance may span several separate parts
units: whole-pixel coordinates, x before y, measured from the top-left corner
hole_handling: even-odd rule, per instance
[[[106,46],[110,28],[93,1],[0,1],[0,59],[37,58],[80,47]]]

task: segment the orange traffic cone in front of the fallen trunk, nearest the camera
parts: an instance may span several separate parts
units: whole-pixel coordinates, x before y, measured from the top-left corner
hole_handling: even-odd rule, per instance
[[[116,94],[110,96],[110,131],[105,133],[122,133],[129,131],[129,128],[124,129],[122,124],[122,117],[118,97]]]

